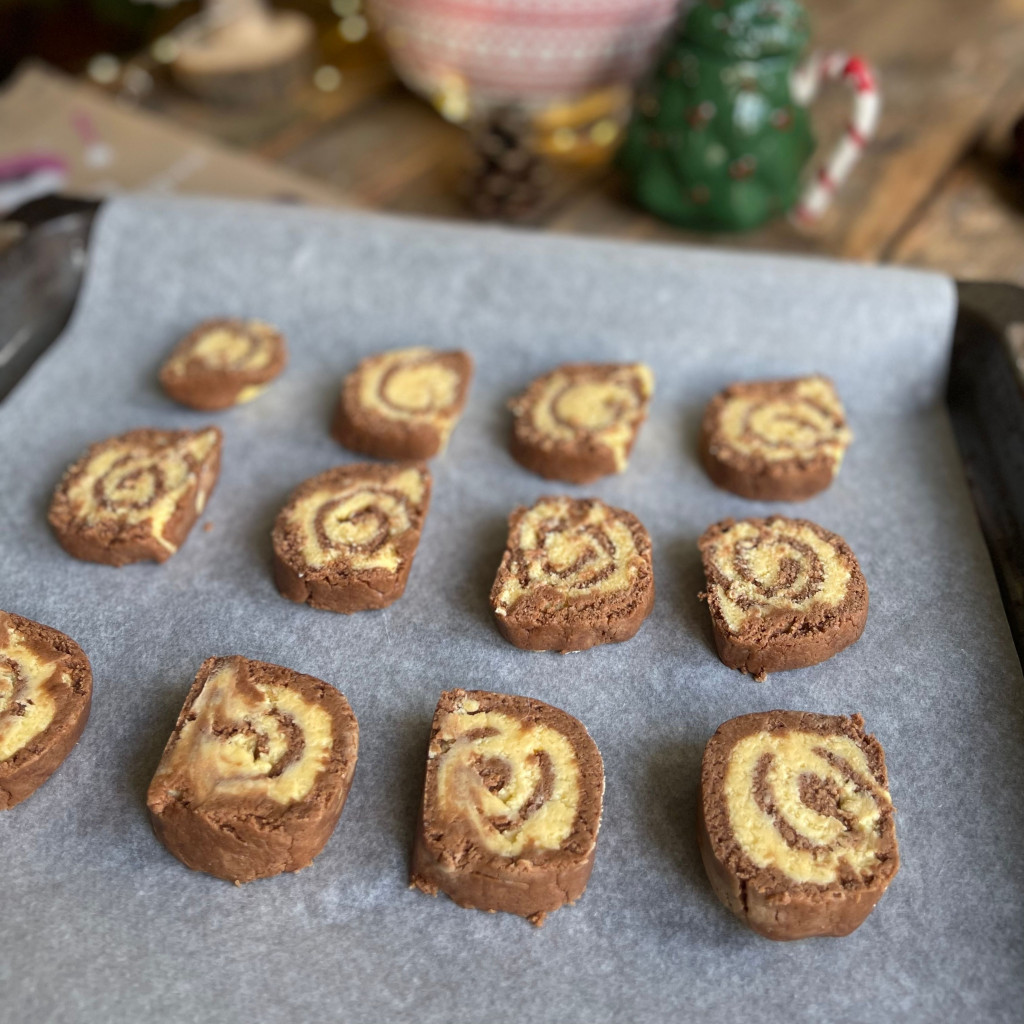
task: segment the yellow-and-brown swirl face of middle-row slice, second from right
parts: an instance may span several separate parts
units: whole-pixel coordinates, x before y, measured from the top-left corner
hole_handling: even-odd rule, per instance
[[[549,608],[598,602],[628,593],[648,569],[630,523],[594,499],[541,499],[513,526],[509,552],[493,598],[498,615],[539,588]]]

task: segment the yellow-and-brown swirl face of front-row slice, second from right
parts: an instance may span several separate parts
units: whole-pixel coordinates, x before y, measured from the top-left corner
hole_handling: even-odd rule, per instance
[[[557,729],[466,698],[429,753],[437,764],[437,807],[465,821],[502,857],[558,850],[572,834],[582,782],[575,750]]]

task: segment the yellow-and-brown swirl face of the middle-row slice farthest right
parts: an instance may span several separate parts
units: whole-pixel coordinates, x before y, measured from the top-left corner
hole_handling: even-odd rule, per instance
[[[805,519],[727,523],[701,542],[709,601],[733,633],[752,617],[838,608],[853,575],[852,553],[838,541]]]

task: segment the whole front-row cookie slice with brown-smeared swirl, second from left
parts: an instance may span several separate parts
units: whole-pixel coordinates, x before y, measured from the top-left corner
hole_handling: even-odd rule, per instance
[[[207,658],[150,783],[153,830],[187,867],[229,882],[301,870],[338,823],[358,742],[333,686]]]

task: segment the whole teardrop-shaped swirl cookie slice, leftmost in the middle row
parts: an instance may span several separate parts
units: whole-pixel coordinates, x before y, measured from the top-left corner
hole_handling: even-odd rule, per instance
[[[220,472],[221,433],[131,430],[93,444],[63,475],[49,520],[76,558],[166,561],[202,515]]]

